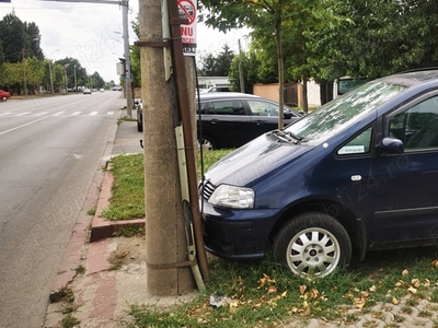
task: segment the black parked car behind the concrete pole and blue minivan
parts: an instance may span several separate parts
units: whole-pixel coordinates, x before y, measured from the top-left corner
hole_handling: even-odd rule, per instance
[[[244,93],[215,92],[199,95],[203,125],[197,116],[198,141],[204,148],[238,148],[278,128],[278,103]],[[285,106],[285,125],[301,114]],[[137,129],[142,131],[142,108],[137,107]]]

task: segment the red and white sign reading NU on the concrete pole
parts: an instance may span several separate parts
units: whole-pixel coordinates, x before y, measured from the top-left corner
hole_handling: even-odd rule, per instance
[[[195,56],[197,0],[177,0],[177,4],[180,17],[188,20],[188,24],[181,25],[184,55]]]

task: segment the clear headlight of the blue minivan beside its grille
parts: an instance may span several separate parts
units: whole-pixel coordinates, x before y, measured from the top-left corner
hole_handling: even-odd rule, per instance
[[[252,209],[254,190],[230,185],[220,185],[211,194],[208,201],[215,206],[233,209]]]

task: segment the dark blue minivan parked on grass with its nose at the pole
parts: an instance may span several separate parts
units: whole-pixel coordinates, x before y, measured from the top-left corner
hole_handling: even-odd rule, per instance
[[[237,149],[199,184],[206,248],[325,277],[368,250],[436,245],[438,70],[368,82]]]

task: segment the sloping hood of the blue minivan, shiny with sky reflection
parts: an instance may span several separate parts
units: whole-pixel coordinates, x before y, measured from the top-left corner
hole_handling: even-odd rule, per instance
[[[273,142],[263,134],[215,163],[205,178],[214,185],[252,187],[266,174],[298,159],[314,147]]]

